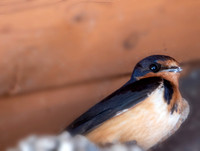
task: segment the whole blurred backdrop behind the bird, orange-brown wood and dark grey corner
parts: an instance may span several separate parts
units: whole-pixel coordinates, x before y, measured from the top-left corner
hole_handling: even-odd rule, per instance
[[[1,0],[0,150],[58,134],[153,54],[178,60],[191,106],[153,151],[200,150],[200,1]]]

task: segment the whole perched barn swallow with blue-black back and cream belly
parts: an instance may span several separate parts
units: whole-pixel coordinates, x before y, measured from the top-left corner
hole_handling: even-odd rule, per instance
[[[179,63],[153,55],[136,64],[130,80],[91,107],[66,130],[99,145],[136,141],[149,149],[172,135],[187,118],[179,91]]]

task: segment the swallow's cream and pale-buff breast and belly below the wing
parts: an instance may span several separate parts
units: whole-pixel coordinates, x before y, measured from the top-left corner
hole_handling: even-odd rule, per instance
[[[122,100],[123,101],[123,100]],[[176,126],[180,114],[171,114],[164,101],[162,85],[142,102],[118,112],[86,136],[95,143],[137,141],[148,149],[168,136]]]

